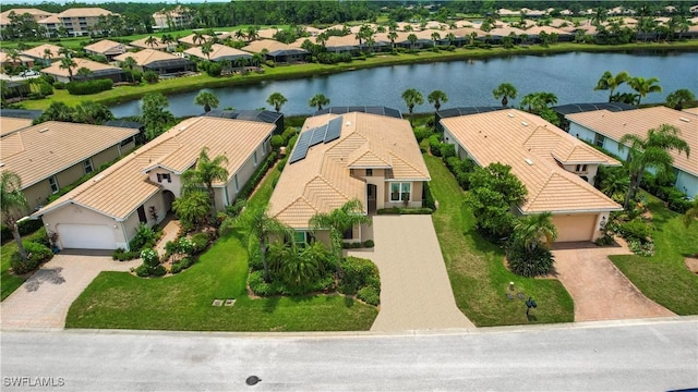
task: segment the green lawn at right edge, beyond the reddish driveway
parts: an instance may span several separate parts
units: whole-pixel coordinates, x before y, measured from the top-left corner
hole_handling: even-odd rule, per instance
[[[688,271],[684,258],[698,254],[698,224],[686,229],[681,215],[654,196],[645,197],[652,211],[654,256],[611,256],[611,261],[652,301],[677,315],[697,315],[698,274]]]

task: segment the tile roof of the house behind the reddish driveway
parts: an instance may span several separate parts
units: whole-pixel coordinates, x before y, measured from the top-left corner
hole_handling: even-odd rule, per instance
[[[553,155],[589,156],[593,161],[610,157],[594,152],[553,124],[516,109],[441,120],[481,167],[501,162],[526,185],[528,196],[519,206],[524,213],[619,210],[621,206],[574,173],[561,168]],[[574,148],[569,148],[570,145]],[[593,151],[592,151],[593,150]]]

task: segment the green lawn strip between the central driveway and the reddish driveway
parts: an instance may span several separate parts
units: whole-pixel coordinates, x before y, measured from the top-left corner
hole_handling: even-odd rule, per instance
[[[574,303],[557,280],[531,279],[509,272],[504,252],[474,231],[472,213],[461,209],[465,193],[441,159],[424,156],[432,176],[430,187],[438,200],[432,219],[446,262],[456,303],[477,326],[574,321]],[[507,299],[509,282],[517,291],[532,296],[538,308],[534,320],[527,320],[525,302]]]

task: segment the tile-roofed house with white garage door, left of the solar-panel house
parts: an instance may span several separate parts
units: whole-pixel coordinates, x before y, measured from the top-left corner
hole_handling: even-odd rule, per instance
[[[141,223],[159,223],[181,192],[181,174],[200,151],[228,158],[228,179],[214,183],[216,206],[225,208],[272,150],[276,126],[244,120],[198,117],[182,121],[77,186],[34,217],[58,233],[61,248],[129,248]]]

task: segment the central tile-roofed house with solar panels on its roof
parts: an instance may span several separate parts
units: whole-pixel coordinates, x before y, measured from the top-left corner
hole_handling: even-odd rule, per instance
[[[297,232],[309,220],[359,199],[365,213],[421,207],[430,174],[407,120],[350,112],[305,120],[269,200],[269,216]],[[345,240],[360,240],[354,228]]]

